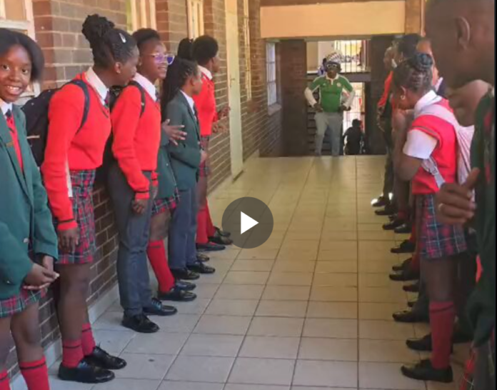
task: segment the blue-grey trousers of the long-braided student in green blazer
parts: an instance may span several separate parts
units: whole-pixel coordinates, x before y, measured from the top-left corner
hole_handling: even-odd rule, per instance
[[[179,203],[169,224],[169,267],[185,269],[196,262],[196,189],[179,191]]]

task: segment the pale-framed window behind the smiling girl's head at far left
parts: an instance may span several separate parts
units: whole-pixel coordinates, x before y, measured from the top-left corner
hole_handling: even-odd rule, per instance
[[[33,4],[31,0],[0,0],[0,27],[22,32],[35,38]],[[30,86],[25,97],[40,91],[39,85]]]

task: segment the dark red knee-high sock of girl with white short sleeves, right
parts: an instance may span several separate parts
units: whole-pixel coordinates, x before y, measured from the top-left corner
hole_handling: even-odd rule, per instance
[[[456,320],[453,302],[430,302],[430,326],[433,352],[431,364],[446,369],[451,364],[452,334]]]

